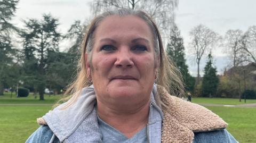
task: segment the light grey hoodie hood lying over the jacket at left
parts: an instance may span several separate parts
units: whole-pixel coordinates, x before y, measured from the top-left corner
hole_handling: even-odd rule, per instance
[[[93,111],[95,103],[96,96],[93,86],[85,87],[82,89],[81,95],[73,105],[62,110],[68,102],[63,103],[54,108],[53,111],[46,113],[43,119],[47,125],[49,125],[55,136],[57,136],[60,141],[63,141],[69,137]]]

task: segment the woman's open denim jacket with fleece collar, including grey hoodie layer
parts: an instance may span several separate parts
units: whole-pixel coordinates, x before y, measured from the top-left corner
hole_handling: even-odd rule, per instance
[[[149,142],[237,142],[218,115],[170,96],[162,87],[154,85],[151,103]],[[94,105],[93,86],[84,88],[75,105],[59,110],[60,105],[39,119],[42,126],[26,142],[102,142]]]

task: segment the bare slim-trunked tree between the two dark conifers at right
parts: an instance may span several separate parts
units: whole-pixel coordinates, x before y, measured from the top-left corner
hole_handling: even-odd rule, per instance
[[[217,44],[217,41],[220,39],[217,33],[212,31],[211,29],[199,24],[194,27],[190,32],[190,51],[191,54],[195,56],[196,64],[197,64],[197,79],[196,84],[199,83],[200,70],[199,65],[202,57],[209,53],[210,49]]]

